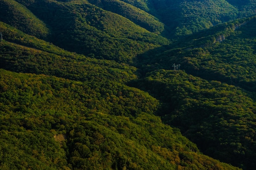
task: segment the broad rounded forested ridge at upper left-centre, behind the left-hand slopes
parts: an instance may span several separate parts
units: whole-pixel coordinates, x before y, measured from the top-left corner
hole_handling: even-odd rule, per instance
[[[87,1],[19,2],[51,26],[53,44],[90,57],[127,63],[139,53],[169,43],[127,18]]]

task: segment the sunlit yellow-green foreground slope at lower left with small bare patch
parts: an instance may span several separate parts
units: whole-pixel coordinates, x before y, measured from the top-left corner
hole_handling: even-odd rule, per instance
[[[202,155],[149,110],[144,113],[135,106],[135,117],[119,115],[127,104],[133,107],[126,97],[146,104],[146,94],[135,88],[108,96],[103,93],[108,87],[97,89],[95,82],[2,69],[0,82],[1,168],[238,169]],[[122,106],[107,114],[103,108],[115,103]],[[56,139],[60,135],[61,141]]]

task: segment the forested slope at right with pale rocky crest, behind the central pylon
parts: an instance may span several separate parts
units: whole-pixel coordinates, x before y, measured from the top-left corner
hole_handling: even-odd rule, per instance
[[[221,24],[177,41],[164,53],[141,55],[141,59],[165,69],[180,63],[193,75],[254,91],[255,22],[252,16]]]

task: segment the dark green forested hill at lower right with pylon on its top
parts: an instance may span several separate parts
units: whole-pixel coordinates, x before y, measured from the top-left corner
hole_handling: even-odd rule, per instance
[[[205,154],[254,167],[256,105],[240,88],[166,70],[148,74],[137,86],[160,99],[164,122],[179,127]]]

